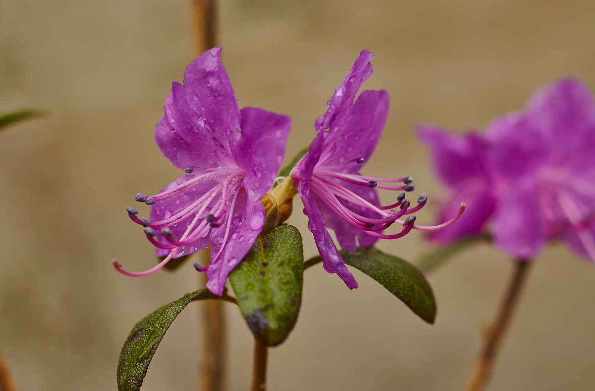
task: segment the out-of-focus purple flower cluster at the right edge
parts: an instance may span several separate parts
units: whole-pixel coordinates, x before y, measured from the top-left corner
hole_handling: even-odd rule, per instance
[[[418,133],[453,198],[469,204],[434,240],[477,234],[491,217],[494,243],[513,257],[534,257],[559,238],[595,260],[595,105],[579,81],[538,90],[524,112],[496,119],[484,135],[428,125]],[[442,215],[451,209],[449,201]]]

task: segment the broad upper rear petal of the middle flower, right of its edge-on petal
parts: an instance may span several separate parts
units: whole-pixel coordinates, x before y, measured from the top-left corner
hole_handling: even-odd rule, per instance
[[[333,126],[325,133],[319,166],[338,165],[358,157],[367,160],[372,155],[389,113],[389,94],[383,90],[366,90],[354,105],[343,105],[340,109],[347,112],[348,122],[341,128]],[[342,171],[356,172],[360,168],[361,165],[352,164]]]

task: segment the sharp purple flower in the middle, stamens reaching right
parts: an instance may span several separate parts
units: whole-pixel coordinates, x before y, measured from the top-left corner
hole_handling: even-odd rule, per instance
[[[376,189],[412,191],[415,185],[411,177],[383,179],[359,174],[374,152],[389,111],[389,95],[384,90],[366,90],[355,100],[359,87],[372,74],[372,57],[368,51],[359,54],[343,84],[328,100],[327,112],[317,119],[317,135],[308,153],[292,171],[324,269],[337,273],[350,289],[357,288],[358,283],[347,270],[327,228],[333,229],[340,246],[348,251],[355,251],[358,244],[362,248],[370,247],[379,238],[400,238],[414,228],[439,228],[414,225],[415,216],[400,220],[425,205],[425,194],[411,208],[405,193],[399,194],[391,205],[380,205]],[[383,234],[393,223],[402,225],[402,231]]]

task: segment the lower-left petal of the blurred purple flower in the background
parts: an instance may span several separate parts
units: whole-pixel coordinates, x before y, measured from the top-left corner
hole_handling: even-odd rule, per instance
[[[447,244],[471,235],[481,234],[488,219],[494,213],[496,206],[496,197],[490,192],[490,187],[486,182],[478,179],[468,181],[456,191],[450,200],[440,209],[439,223],[452,219],[461,207],[461,203],[467,204],[465,213],[456,221],[456,223],[431,231],[428,237],[439,244]]]

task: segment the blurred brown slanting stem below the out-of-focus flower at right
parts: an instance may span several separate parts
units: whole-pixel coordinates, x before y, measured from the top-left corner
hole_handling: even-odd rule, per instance
[[[480,355],[475,362],[475,367],[469,377],[466,391],[480,391],[483,390],[490,377],[491,368],[500,343],[506,332],[506,327],[511,320],[515,305],[520,297],[522,287],[527,279],[527,272],[531,266],[530,260],[516,260],[514,261],[514,268],[512,270],[511,280],[506,289],[500,309],[497,313],[496,320],[491,325],[486,334],[483,348]]]

